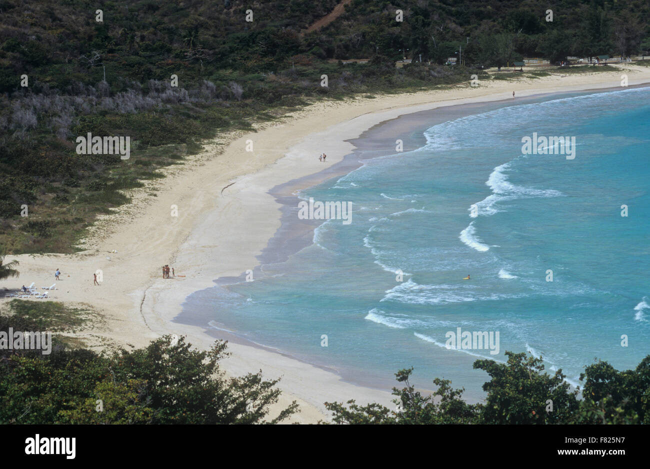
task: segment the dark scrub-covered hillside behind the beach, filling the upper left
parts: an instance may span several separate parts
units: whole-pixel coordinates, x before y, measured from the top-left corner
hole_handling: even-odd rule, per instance
[[[123,190],[160,177],[157,168],[195,153],[201,139],[313,99],[468,81],[523,55],[650,47],[642,0],[558,1],[552,22],[535,0],[354,0],[304,34],[336,3],[0,0],[5,253],[71,252],[96,214],[128,201]],[[444,66],[459,47],[465,66]],[[422,63],[396,68],[402,55]],[[337,61],[346,58],[370,62]],[[131,158],[78,155],[75,138],[88,132],[130,136]]]

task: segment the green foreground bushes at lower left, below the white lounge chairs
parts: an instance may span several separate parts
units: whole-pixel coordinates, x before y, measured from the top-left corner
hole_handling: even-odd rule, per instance
[[[80,311],[49,301],[14,300],[0,316],[0,331],[70,333]],[[164,336],[144,349],[99,355],[53,336],[49,355],[36,349],[0,349],[0,422],[3,424],[259,424],[270,420],[277,380],[261,372],[227,379],[219,370],[226,342],[210,351],[190,348],[183,337]],[[98,407],[101,401],[101,409]]]

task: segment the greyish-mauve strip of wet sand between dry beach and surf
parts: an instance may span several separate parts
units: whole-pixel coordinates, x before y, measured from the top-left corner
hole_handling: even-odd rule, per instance
[[[588,94],[588,92],[585,93]],[[530,95],[519,100],[517,102],[517,105],[534,103],[538,101],[540,97],[556,97],[563,94],[564,93],[543,93]],[[569,92],[569,94],[571,94],[571,92]],[[352,171],[356,171],[366,164],[371,164],[371,160],[374,160],[375,158],[381,158],[395,154],[394,146],[386,147],[383,145],[381,147],[377,147],[376,142],[378,140],[394,142],[396,138],[400,138],[404,141],[404,151],[411,151],[411,149],[417,149],[426,144],[426,139],[424,138],[424,134],[421,134],[421,131],[424,132],[429,127],[432,127],[432,125],[443,123],[449,120],[455,120],[464,116],[471,116],[477,112],[487,112],[489,110],[501,108],[502,106],[503,101],[487,101],[478,105],[475,103],[469,105],[450,104],[448,106],[434,108],[432,110],[423,110],[409,114],[402,114],[395,119],[381,121],[380,123],[372,126],[370,129],[364,131],[357,138],[348,140],[348,142],[354,145],[354,151],[348,155],[345,155],[339,162],[333,164],[332,166],[328,166],[327,168],[324,168],[317,173],[306,175],[298,179],[292,179],[291,181],[287,181],[285,183],[279,184],[278,186],[270,188],[270,190],[268,190],[268,194],[272,195],[276,203],[278,203],[280,206],[281,224],[278,228],[278,231],[276,231],[272,238],[268,240],[266,246],[261,249],[261,253],[257,256],[259,263],[254,268],[252,268],[253,278],[259,279],[260,277],[265,277],[266,275],[263,273],[263,271],[266,266],[270,266],[270,264],[275,264],[276,262],[284,262],[290,256],[313,244],[314,231],[323,223],[323,221],[298,220],[296,218],[294,209],[296,208],[298,201],[300,201],[298,192],[313,188],[319,184],[325,183],[326,181],[331,181],[338,177],[344,177],[345,175],[351,173]],[[443,115],[441,111],[445,112],[445,115]],[[403,120],[405,119],[408,122],[404,123]],[[408,131],[405,132],[404,129],[408,129]],[[416,135],[412,135],[414,133],[414,130]],[[421,142],[413,144],[413,140],[421,140]],[[408,144],[411,145],[409,146]],[[209,290],[213,290],[215,287],[221,287],[229,290],[229,286],[245,282],[245,277],[246,273],[242,272],[237,276],[224,276],[214,279],[213,285],[211,285],[211,287],[208,289],[194,292],[185,298],[185,301],[183,301],[182,305],[182,311],[177,316],[175,316],[172,321],[182,325],[203,327],[204,333],[211,335],[214,338],[227,338],[227,340],[230,342],[263,349],[271,353],[279,353],[280,355],[283,355],[290,359],[304,362],[305,364],[315,366],[322,370],[333,372],[339,375],[339,377],[344,382],[350,383],[352,385],[372,388],[375,390],[389,390],[393,387],[393,385],[395,385],[395,381],[389,379],[389,377],[387,377],[387,379],[379,379],[376,377],[375,373],[369,372],[367,373],[365,379],[362,379],[359,377],[359,375],[365,375],[365,370],[352,370],[348,368],[341,369],[337,368],[337,366],[334,366],[331,363],[318,362],[315,359],[310,359],[310,357],[302,356],[299,353],[291,353],[287,350],[277,349],[272,346],[260,344],[251,338],[246,338],[246,331],[237,333],[229,329],[230,326],[227,323],[211,320],[211,316],[209,314],[202,314],[202,310],[204,308],[190,308],[190,305],[194,298],[198,297],[198,302],[201,303],[203,292],[205,292],[206,296],[209,296]],[[190,304],[188,305],[188,303]],[[471,362],[474,361],[474,358],[475,357],[468,358],[470,368]],[[462,359],[460,359],[460,361],[462,361]],[[426,387],[426,383],[422,383],[422,385],[422,390],[432,392],[431,389]],[[473,393],[468,390],[467,394]],[[483,393],[479,392],[478,394]],[[471,401],[471,403],[474,403],[478,402],[480,399],[467,398],[467,400]]]

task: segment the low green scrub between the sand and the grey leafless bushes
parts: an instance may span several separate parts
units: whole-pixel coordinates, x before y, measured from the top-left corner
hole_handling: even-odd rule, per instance
[[[266,112],[258,113],[261,109]],[[116,161],[97,162],[86,158],[86,155],[70,155],[72,152],[69,149],[58,151],[50,147],[49,151],[62,153],[61,157],[64,158],[88,159],[89,162],[79,162],[79,166],[88,164],[91,168],[97,166],[98,170],[71,177],[55,175],[53,180],[43,184],[18,174],[0,181],[0,190],[4,190],[6,196],[15,197],[16,186],[23,189],[18,196],[21,196],[20,202],[25,203],[28,210],[27,216],[19,216],[22,204],[10,200],[8,213],[1,214],[0,244],[7,253],[16,254],[79,251],[75,246],[98,214],[108,214],[120,205],[129,203],[130,197],[125,191],[142,188],[144,181],[164,178],[157,170],[183,164],[187,155],[201,151],[203,139],[214,137],[218,132],[251,130],[253,122],[272,121],[293,109],[270,108],[248,102],[230,107],[216,105],[203,108],[201,114],[195,116],[170,119],[166,127],[161,125],[161,120],[144,114],[93,118],[94,125],[100,121],[107,127],[104,134],[112,134],[110,128],[115,127],[136,129],[136,133],[140,129],[139,135],[136,134],[138,140],[132,141],[131,157],[128,160],[117,157]],[[181,113],[181,110],[177,111]],[[120,122],[124,118],[127,123]],[[84,119],[82,116],[75,134],[83,135],[91,131],[91,127],[86,125],[88,120],[90,117]],[[98,134],[96,128],[92,129],[92,133]],[[162,133],[165,135],[162,136]],[[51,137],[45,134],[44,129],[42,136],[34,135],[32,138],[42,140],[47,145],[45,140]],[[162,144],[154,144],[157,141]],[[25,153],[21,155],[30,156]],[[35,152],[32,155],[38,157]],[[159,185],[164,186],[164,182],[161,181]]]

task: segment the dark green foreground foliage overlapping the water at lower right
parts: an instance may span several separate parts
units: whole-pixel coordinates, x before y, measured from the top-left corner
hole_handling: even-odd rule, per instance
[[[608,362],[595,362],[580,375],[578,390],[569,391],[562,370],[544,373],[541,359],[506,351],[508,363],[477,360],[474,368],[487,372],[490,381],[484,403],[470,405],[462,399],[464,389],[451,381],[434,379],[437,390],[422,396],[409,383],[413,368],[400,370],[393,388],[395,409],[372,403],[359,406],[354,400],[325,403],[337,424],[649,424],[650,355],[635,370],[619,372]]]

